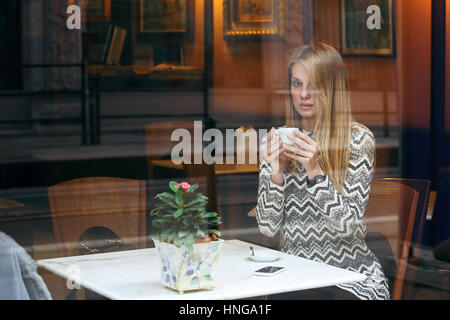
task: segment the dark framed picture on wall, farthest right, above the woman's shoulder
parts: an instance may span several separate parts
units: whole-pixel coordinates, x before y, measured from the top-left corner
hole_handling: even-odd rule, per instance
[[[341,53],[395,56],[395,0],[341,0]]]

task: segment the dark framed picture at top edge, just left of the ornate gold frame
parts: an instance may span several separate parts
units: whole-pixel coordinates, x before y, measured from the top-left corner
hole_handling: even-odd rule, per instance
[[[186,34],[191,0],[139,0],[139,31],[147,34]]]

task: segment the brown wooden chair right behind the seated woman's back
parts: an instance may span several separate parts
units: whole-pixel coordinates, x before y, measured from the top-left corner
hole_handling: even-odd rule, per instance
[[[368,233],[384,235],[392,248],[396,262],[395,275],[391,275],[394,278],[392,299],[395,300],[402,298],[411,241],[414,232],[418,232],[418,229],[414,229],[417,208],[425,207],[425,204],[419,204],[419,191],[408,184],[408,181],[403,179],[373,179],[364,214]],[[425,209],[419,211],[423,215]],[[382,257],[377,256],[381,260]]]

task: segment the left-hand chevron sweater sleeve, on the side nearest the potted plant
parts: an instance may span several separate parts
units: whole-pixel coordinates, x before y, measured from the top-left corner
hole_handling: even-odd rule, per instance
[[[263,138],[261,148],[264,148],[266,138]],[[263,156],[259,163],[258,203],[256,220],[259,230],[268,237],[274,237],[283,222],[284,183],[279,186],[270,180],[272,168]]]

